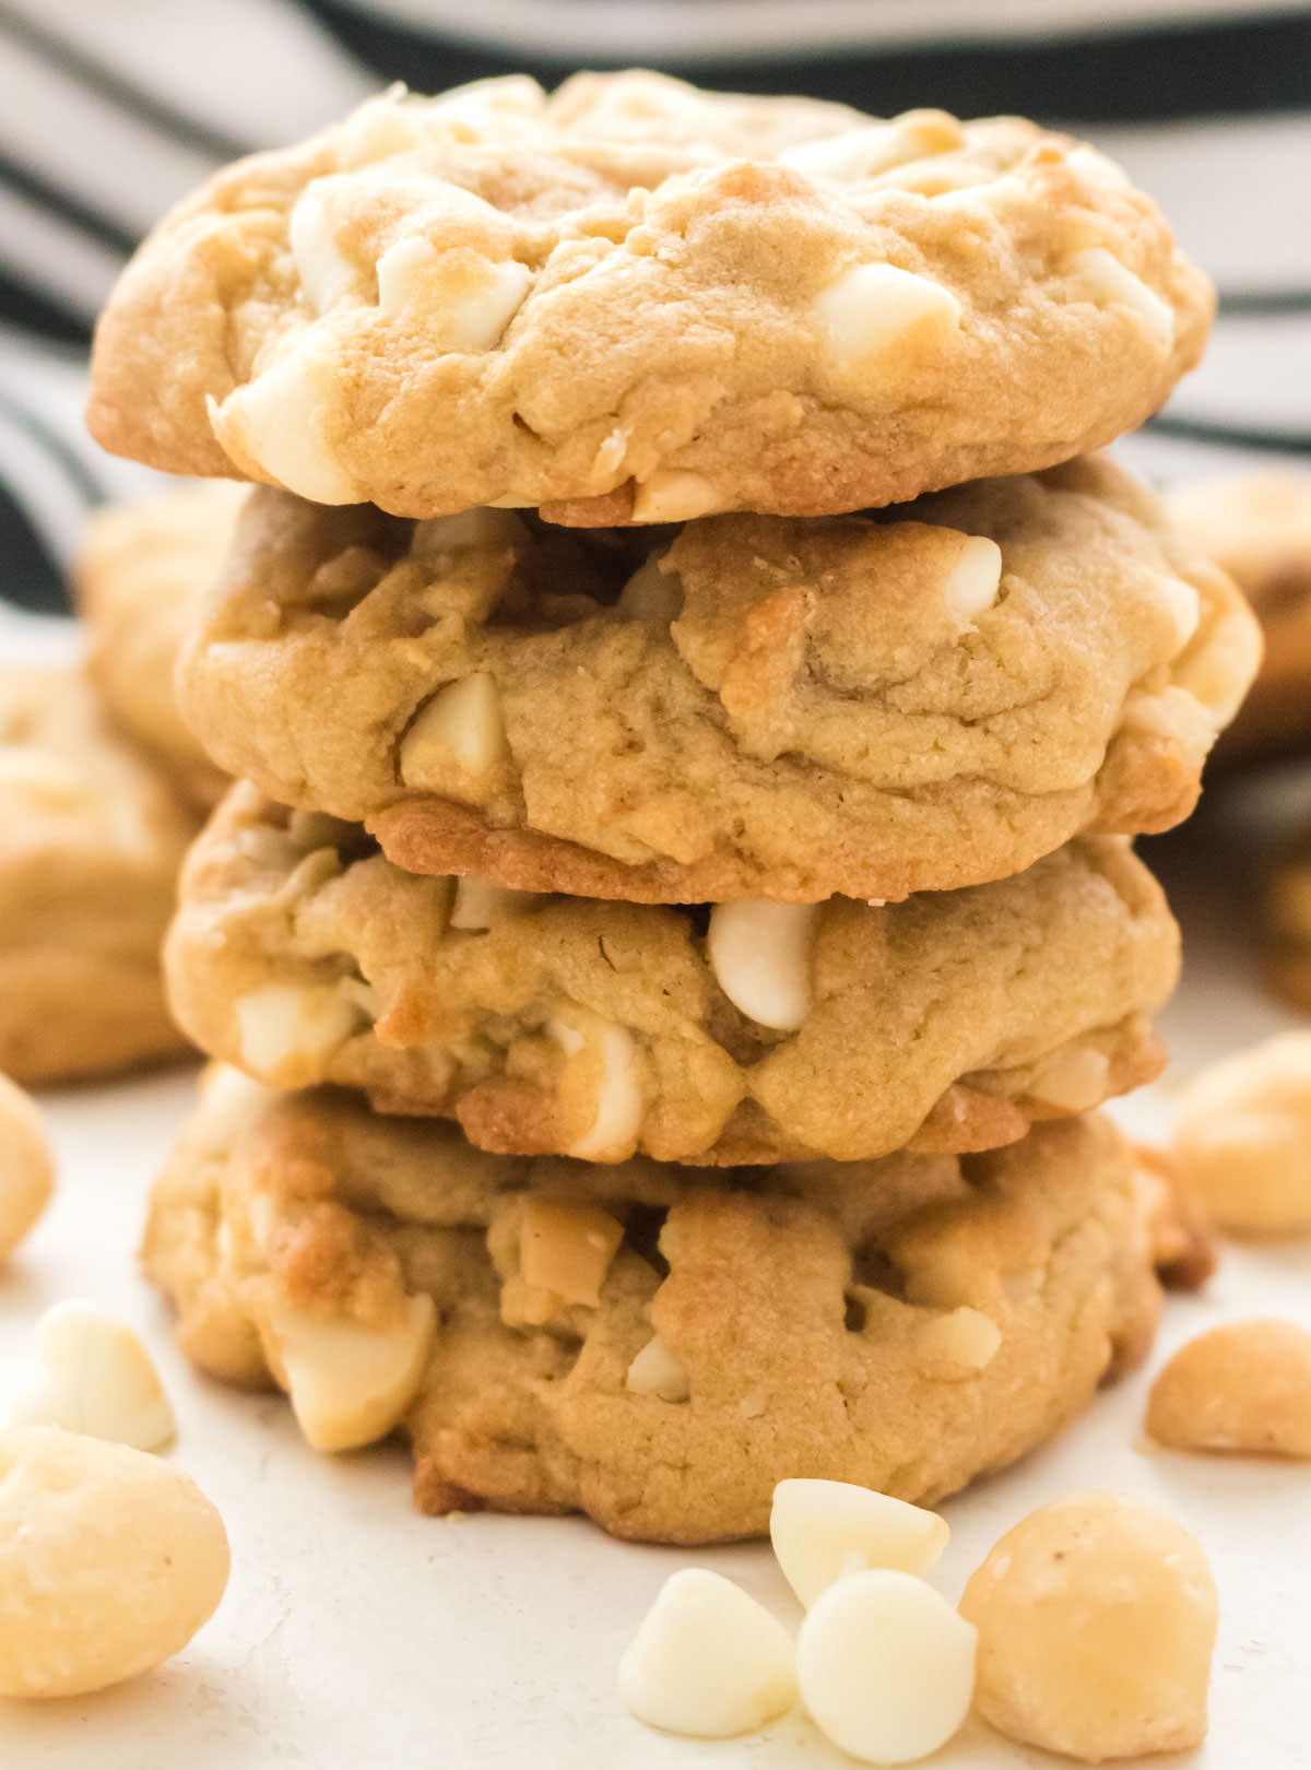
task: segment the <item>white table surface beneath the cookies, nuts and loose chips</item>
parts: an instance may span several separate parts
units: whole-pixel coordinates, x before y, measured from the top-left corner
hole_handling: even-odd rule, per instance
[[[1247,820],[1251,823],[1251,818]],[[1226,850],[1233,866],[1212,878]],[[1191,936],[1168,1011],[1171,1076],[1295,1023],[1254,986],[1235,929],[1251,867],[1224,820],[1168,851]],[[1161,855],[1157,853],[1157,860]],[[1224,883],[1228,874],[1230,883]],[[1215,938],[1219,933],[1221,938]],[[1159,1127],[1169,1078],[1125,1103]],[[134,1322],[173,1397],[177,1462],[216,1501],[234,1574],[214,1621],[161,1673],[83,1701],[0,1703],[0,1765],[23,1770],[824,1770],[840,1752],[793,1715],[745,1740],[648,1731],[621,1708],[614,1669],[663,1577],[706,1563],[789,1623],[796,1607],[768,1547],[706,1552],[614,1543],[577,1519],[425,1519],[400,1448],[322,1458],[288,1409],[193,1375],[140,1280],[134,1248],[150,1177],[193,1076],[173,1073],[48,1096],[58,1198],[0,1274],[0,1386],[14,1381],[39,1310],[94,1297]],[[1201,1297],[1169,1303],[1145,1372],[1102,1395],[1054,1444],[945,1504],[952,1543],[934,1582],[955,1598],[987,1547],[1033,1506],[1111,1487],[1182,1519],[1221,1589],[1210,1742],[1198,1770],[1311,1765],[1311,1467],[1145,1450],[1146,1386],[1198,1329],[1240,1313],[1311,1324],[1311,1241],[1230,1246]],[[982,1724],[941,1770],[1054,1765]]]

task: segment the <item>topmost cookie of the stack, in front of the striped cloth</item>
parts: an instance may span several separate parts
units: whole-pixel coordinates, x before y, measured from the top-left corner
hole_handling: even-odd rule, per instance
[[[166,216],[88,425],[405,517],[819,515],[1108,442],[1210,308],[1155,205],[1023,119],[495,80],[386,94]]]

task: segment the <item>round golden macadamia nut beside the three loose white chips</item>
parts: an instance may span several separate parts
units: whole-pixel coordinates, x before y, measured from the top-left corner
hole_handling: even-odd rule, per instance
[[[975,1570],[978,1712],[1000,1733],[1100,1763],[1200,1745],[1215,1644],[1207,1558],[1118,1494],[1031,1512]]]

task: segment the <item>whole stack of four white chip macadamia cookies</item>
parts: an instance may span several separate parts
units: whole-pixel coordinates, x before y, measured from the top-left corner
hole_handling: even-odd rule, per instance
[[[1063,136],[653,74],[389,94],[161,225],[92,428],[262,481],[179,678],[242,782],[168,950],[196,1363],[428,1510],[694,1542],[1141,1352],[1129,835],[1256,637],[1077,457],[1208,312]]]

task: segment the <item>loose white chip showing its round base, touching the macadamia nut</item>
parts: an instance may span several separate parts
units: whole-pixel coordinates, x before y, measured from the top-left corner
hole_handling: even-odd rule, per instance
[[[862,1763],[915,1763],[970,1713],[977,1639],[913,1574],[853,1574],[805,1614],[796,1643],[801,1701],[819,1731]]]

